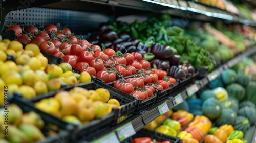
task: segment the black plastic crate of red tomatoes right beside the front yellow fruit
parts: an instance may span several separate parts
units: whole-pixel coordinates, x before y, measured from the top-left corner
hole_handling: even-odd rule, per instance
[[[156,101],[156,98],[157,98],[157,95],[155,93],[151,97],[148,97],[147,99],[142,101],[141,99],[135,98],[135,97],[131,96],[130,94],[127,94],[127,93],[125,93],[123,91],[120,91],[120,90],[114,88],[113,87],[114,83],[106,85],[106,84],[104,84],[102,82],[97,82],[97,80],[96,80],[96,83],[101,85],[102,87],[107,87],[107,89],[109,89],[109,90],[111,90],[111,91],[113,91],[113,92],[115,92],[117,94],[120,94],[123,97],[129,98],[132,101],[136,101],[137,102],[136,103],[137,104],[136,105],[136,109],[135,109],[135,113],[136,114],[146,110],[147,108],[152,107],[155,104],[155,101]]]

